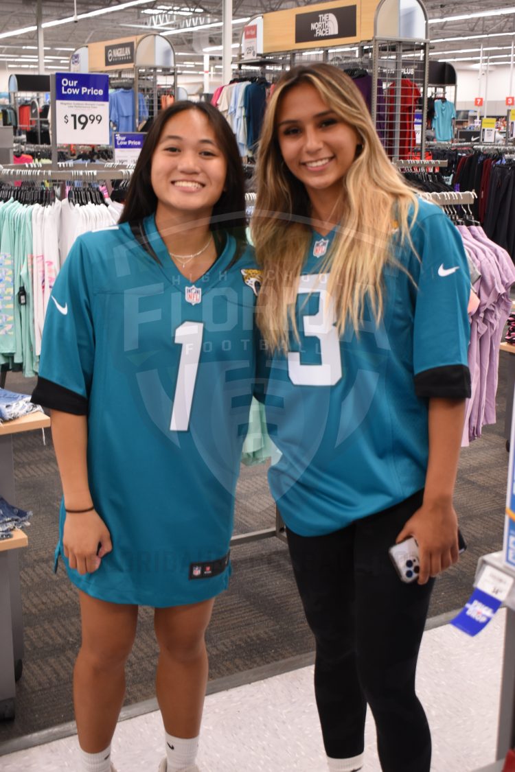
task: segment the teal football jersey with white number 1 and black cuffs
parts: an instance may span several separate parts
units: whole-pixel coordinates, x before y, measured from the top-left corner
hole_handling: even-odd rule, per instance
[[[228,237],[189,282],[154,216],[80,236],[56,279],[34,401],[87,415],[87,464],[113,551],[71,581],[104,601],[168,607],[229,581],[236,479],[255,378],[252,251]],[[82,515],[88,517],[88,514]]]

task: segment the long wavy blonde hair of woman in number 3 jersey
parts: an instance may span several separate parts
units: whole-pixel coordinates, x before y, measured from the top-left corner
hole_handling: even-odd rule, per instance
[[[298,338],[295,319],[296,288],[312,231],[310,199],[281,155],[276,131],[277,114],[284,94],[309,83],[341,120],[357,131],[361,152],[342,184],[343,217],[333,247],[320,273],[330,268],[327,291],[334,301],[337,329],[346,323],[359,328],[364,300],[374,319],[383,313],[382,275],[395,262],[391,235],[408,239],[418,211],[417,199],[394,168],[374,129],[361,93],[351,78],[334,66],[315,63],[290,69],[277,83],[266,109],[259,141],[256,210],[252,240],[263,266],[263,284],[257,303],[257,322],[272,349],[287,350],[289,323]]]

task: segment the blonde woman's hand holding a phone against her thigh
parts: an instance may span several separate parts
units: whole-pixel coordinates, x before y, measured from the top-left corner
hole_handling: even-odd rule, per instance
[[[425,584],[429,577],[445,571],[459,557],[458,517],[452,502],[423,503],[405,523],[395,543],[410,536],[418,543],[418,584]]]

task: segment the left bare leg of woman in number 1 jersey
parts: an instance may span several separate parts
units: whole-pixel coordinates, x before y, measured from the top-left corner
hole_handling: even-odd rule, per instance
[[[100,753],[110,744],[124,703],[137,606],[99,601],[82,591],[79,599],[83,639],[73,671],[77,734],[86,753]]]

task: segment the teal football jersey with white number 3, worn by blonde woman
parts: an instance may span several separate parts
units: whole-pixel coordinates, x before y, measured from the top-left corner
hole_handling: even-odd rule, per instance
[[[406,270],[385,268],[379,324],[365,302],[359,336],[349,323],[338,337],[329,276],[319,273],[334,232],[315,232],[296,299],[300,342],[290,334],[287,355],[259,357],[268,431],[282,454],[269,485],[300,536],[340,530],[422,489],[428,398],[469,396],[466,255],[446,215],[422,200],[419,207],[418,257],[395,242],[393,224]]]

